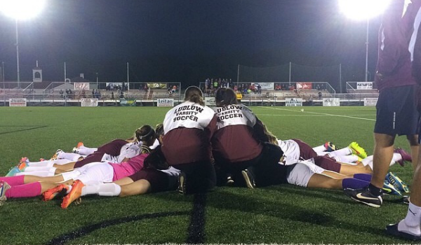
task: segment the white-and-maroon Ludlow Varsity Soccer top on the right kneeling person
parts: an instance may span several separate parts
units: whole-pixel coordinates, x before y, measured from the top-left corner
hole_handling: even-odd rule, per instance
[[[215,160],[243,162],[257,158],[262,144],[253,137],[257,118],[243,104],[217,107],[217,131],[212,138]]]

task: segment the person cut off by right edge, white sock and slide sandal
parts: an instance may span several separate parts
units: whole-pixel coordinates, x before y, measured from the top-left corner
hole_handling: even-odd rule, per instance
[[[416,3],[414,1],[414,3]],[[417,80],[418,85],[421,85],[421,9],[418,9],[413,35],[410,39],[410,54],[412,61],[413,76]],[[421,111],[421,86],[418,86],[418,111]],[[420,132],[418,134],[418,142],[421,139],[421,120],[420,120]],[[421,148],[418,152],[418,165],[415,168],[415,173],[412,183],[412,191],[410,193],[410,202],[408,207],[408,213],[406,217],[399,223],[387,225],[387,233],[396,237],[403,237],[406,239],[421,240]]]

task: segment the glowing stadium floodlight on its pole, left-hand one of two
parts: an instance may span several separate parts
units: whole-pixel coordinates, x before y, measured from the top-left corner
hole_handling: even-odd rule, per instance
[[[41,13],[46,0],[0,0],[0,11],[4,15],[15,19],[16,23],[16,64],[18,73],[18,87],[20,88],[19,71],[19,31],[18,20],[29,20]]]

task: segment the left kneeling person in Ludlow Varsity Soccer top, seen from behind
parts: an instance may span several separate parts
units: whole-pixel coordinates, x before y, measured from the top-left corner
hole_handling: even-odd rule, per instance
[[[179,191],[201,193],[215,186],[210,138],[215,112],[203,102],[199,87],[187,87],[185,102],[166,113],[162,152],[168,165],[181,170]]]

